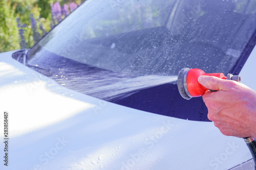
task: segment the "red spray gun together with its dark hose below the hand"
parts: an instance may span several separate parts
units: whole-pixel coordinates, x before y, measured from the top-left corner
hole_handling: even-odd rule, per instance
[[[208,89],[202,86],[198,82],[199,76],[215,76],[224,80],[233,80],[240,82],[240,76],[233,76],[232,74],[228,74],[225,76],[223,73],[210,73],[206,74],[203,70],[198,68],[182,68],[178,74],[178,89],[182,98],[186,100],[190,100],[191,98],[202,96],[206,91],[216,91]],[[245,137],[243,138],[249,148],[254,164],[256,165],[256,140],[253,137]],[[255,168],[256,169],[256,168]]]

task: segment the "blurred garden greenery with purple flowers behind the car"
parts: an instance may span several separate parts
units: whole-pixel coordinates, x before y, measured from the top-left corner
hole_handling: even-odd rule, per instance
[[[83,0],[0,0],[0,53],[32,47]]]

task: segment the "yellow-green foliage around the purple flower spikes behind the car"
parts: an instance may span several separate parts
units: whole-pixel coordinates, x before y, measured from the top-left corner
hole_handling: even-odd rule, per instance
[[[0,0],[0,53],[18,50],[21,41],[16,18],[20,19],[20,24],[26,24],[24,38],[28,47],[32,47],[38,38],[33,36],[33,32],[39,33],[41,38],[46,32],[51,30],[51,4],[56,1],[60,5],[81,0]],[[30,14],[36,20],[36,30],[32,28]],[[35,40],[35,41],[34,41]]]

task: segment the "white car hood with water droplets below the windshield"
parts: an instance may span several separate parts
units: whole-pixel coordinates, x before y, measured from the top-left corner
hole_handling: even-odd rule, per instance
[[[11,169],[228,169],[251,159],[243,139],[222,135],[211,122],[67,89],[12,53],[0,54],[0,120],[8,112]]]

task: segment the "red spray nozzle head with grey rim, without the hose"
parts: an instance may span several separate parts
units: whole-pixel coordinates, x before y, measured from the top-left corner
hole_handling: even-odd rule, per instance
[[[184,99],[191,99],[203,95],[207,90],[204,86],[198,83],[199,76],[215,76],[220,79],[229,79],[240,81],[240,76],[233,76],[228,74],[227,77],[223,73],[206,74],[203,70],[198,68],[183,68],[178,74],[178,89]]]

